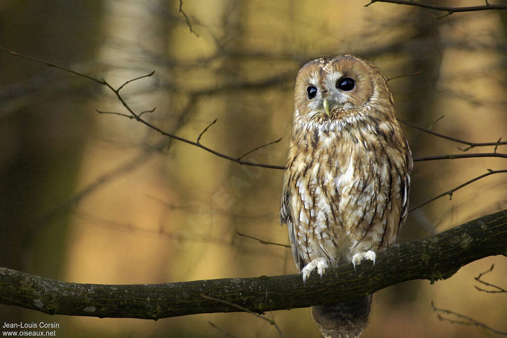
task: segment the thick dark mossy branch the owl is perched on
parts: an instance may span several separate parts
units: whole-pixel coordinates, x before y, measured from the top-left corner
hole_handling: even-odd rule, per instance
[[[0,268],[0,303],[48,314],[159,319],[198,313],[256,313],[332,304],[412,279],[451,277],[490,255],[507,256],[507,209],[426,239],[394,245],[372,266],[365,262],[312,275],[261,276],[143,285],[66,283]],[[208,297],[218,298],[216,302]]]

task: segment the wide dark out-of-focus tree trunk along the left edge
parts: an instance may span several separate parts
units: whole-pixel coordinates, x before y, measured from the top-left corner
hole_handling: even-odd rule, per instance
[[[4,47],[63,66],[89,60],[97,50],[99,1],[24,0],[1,7]],[[80,169],[83,126],[91,127],[85,99],[69,97],[81,80],[63,80],[67,85],[59,87],[60,74],[46,65],[6,53],[0,62],[8,68],[0,80],[0,266],[59,278],[68,217],[66,212],[46,216],[71,196]],[[3,308],[0,313],[7,322],[17,322],[26,313]]]

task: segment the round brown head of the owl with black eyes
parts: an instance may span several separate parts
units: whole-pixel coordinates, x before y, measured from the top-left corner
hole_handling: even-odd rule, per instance
[[[394,117],[386,78],[373,63],[353,55],[307,62],[298,72],[294,104],[295,119],[301,121],[336,121],[369,114],[377,104],[389,108],[373,109],[375,114]]]

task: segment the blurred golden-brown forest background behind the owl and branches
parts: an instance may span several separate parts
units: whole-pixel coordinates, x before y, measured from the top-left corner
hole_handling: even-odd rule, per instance
[[[453,137],[507,137],[507,13],[445,13],[368,0],[0,2],[0,46],[104,78],[148,121],[244,159],[284,165],[292,91],[306,61],[338,54],[371,59],[390,81],[401,119]],[[482,5],[480,0],[433,2]],[[493,1],[490,1],[493,3]],[[107,88],[0,53],[0,266],[79,283],[166,283],[295,273],[278,224],[282,171],[247,167],[95,109],[127,114]],[[403,126],[414,157],[458,154],[462,144]],[[469,152],[493,152],[494,147]],[[504,152],[500,146],[498,152]],[[411,204],[505,161],[416,162]],[[400,241],[430,236],[504,209],[505,174],[491,175],[409,215]],[[507,330],[507,259],[487,257],[430,285],[377,292],[364,337],[492,336],[440,321],[451,309]],[[319,337],[308,309],[266,314],[285,337]],[[456,318],[453,318],[456,319]],[[161,319],[49,316],[0,306],[0,321],[56,321],[63,337],[276,337],[246,313]]]

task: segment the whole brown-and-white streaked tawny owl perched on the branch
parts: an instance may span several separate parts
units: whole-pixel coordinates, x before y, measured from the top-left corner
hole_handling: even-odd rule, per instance
[[[280,222],[304,282],[314,270],[375,263],[394,243],[407,219],[411,169],[391,91],[373,63],[340,55],[299,70]],[[355,337],[372,302],[368,295],[311,314],[323,336]]]

